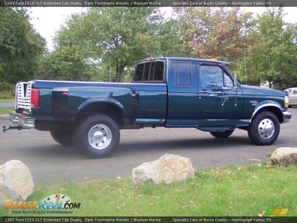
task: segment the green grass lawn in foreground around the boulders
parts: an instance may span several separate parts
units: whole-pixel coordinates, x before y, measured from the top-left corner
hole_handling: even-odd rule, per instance
[[[81,203],[69,216],[257,216],[268,208],[289,208],[286,216],[297,216],[296,188],[296,165],[262,163],[201,169],[195,178],[171,184],[135,186],[128,177],[36,186],[27,201],[66,194]],[[2,206],[0,216],[22,215]]]

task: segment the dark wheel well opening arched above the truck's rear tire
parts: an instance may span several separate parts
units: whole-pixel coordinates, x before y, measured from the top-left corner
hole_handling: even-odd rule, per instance
[[[123,125],[123,112],[122,110],[111,103],[92,103],[89,104],[78,113],[75,121],[85,118],[86,116],[102,114],[112,118],[119,126]]]

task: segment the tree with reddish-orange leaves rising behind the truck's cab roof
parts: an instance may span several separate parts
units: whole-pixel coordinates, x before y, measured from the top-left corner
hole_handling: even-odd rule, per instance
[[[250,31],[251,13],[239,7],[178,7],[179,29],[186,43],[184,56],[236,63]]]

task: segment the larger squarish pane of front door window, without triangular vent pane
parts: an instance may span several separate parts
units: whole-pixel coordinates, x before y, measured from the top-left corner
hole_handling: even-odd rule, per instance
[[[203,87],[222,87],[223,72],[222,68],[211,65],[200,66],[201,84]]]

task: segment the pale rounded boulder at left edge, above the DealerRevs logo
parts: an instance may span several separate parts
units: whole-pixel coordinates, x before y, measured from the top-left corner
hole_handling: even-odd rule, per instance
[[[30,170],[21,161],[11,160],[0,166],[0,204],[6,199],[24,201],[33,187]]]

